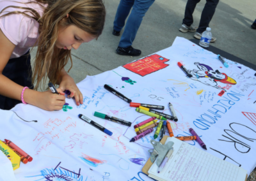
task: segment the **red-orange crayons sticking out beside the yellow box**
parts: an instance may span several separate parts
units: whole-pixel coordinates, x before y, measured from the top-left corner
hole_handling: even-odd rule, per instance
[[[10,147],[13,150],[13,152],[15,152],[20,157],[20,161],[22,161],[22,163],[26,164],[33,160],[33,157],[29,156],[26,152],[24,152],[21,148],[15,145],[12,141],[4,139],[3,143]]]

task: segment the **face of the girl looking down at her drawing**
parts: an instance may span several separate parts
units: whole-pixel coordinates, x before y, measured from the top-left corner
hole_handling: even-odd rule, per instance
[[[55,46],[65,50],[71,50],[72,48],[76,50],[82,43],[88,43],[93,39],[95,37],[76,25],[69,25],[68,27],[60,27]]]

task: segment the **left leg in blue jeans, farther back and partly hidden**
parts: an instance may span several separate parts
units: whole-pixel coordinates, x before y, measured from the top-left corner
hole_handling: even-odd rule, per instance
[[[114,21],[114,31],[120,32],[125,25],[125,20],[128,17],[134,0],[121,0],[116,10]],[[119,34],[118,34],[119,35]]]

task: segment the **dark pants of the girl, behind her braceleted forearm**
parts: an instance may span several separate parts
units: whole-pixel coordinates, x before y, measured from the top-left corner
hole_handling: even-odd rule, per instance
[[[19,85],[29,87],[29,89],[34,88],[31,81],[31,73],[32,71],[29,51],[19,58],[10,59],[6,64],[5,68],[3,69],[4,76],[10,78],[10,80],[18,83]],[[21,103],[21,101],[6,98],[0,95],[0,109],[2,110],[10,110],[19,103]]]

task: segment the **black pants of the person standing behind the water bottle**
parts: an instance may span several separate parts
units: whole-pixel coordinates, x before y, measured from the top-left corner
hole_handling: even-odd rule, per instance
[[[193,12],[196,8],[196,4],[199,3],[200,0],[188,0],[186,9],[185,9],[185,17],[183,19],[183,24],[191,25],[193,24]],[[204,6],[204,10],[202,11],[202,15],[200,18],[200,23],[196,32],[203,33],[212,20],[215,9],[219,3],[219,0],[206,0],[206,4]]]

